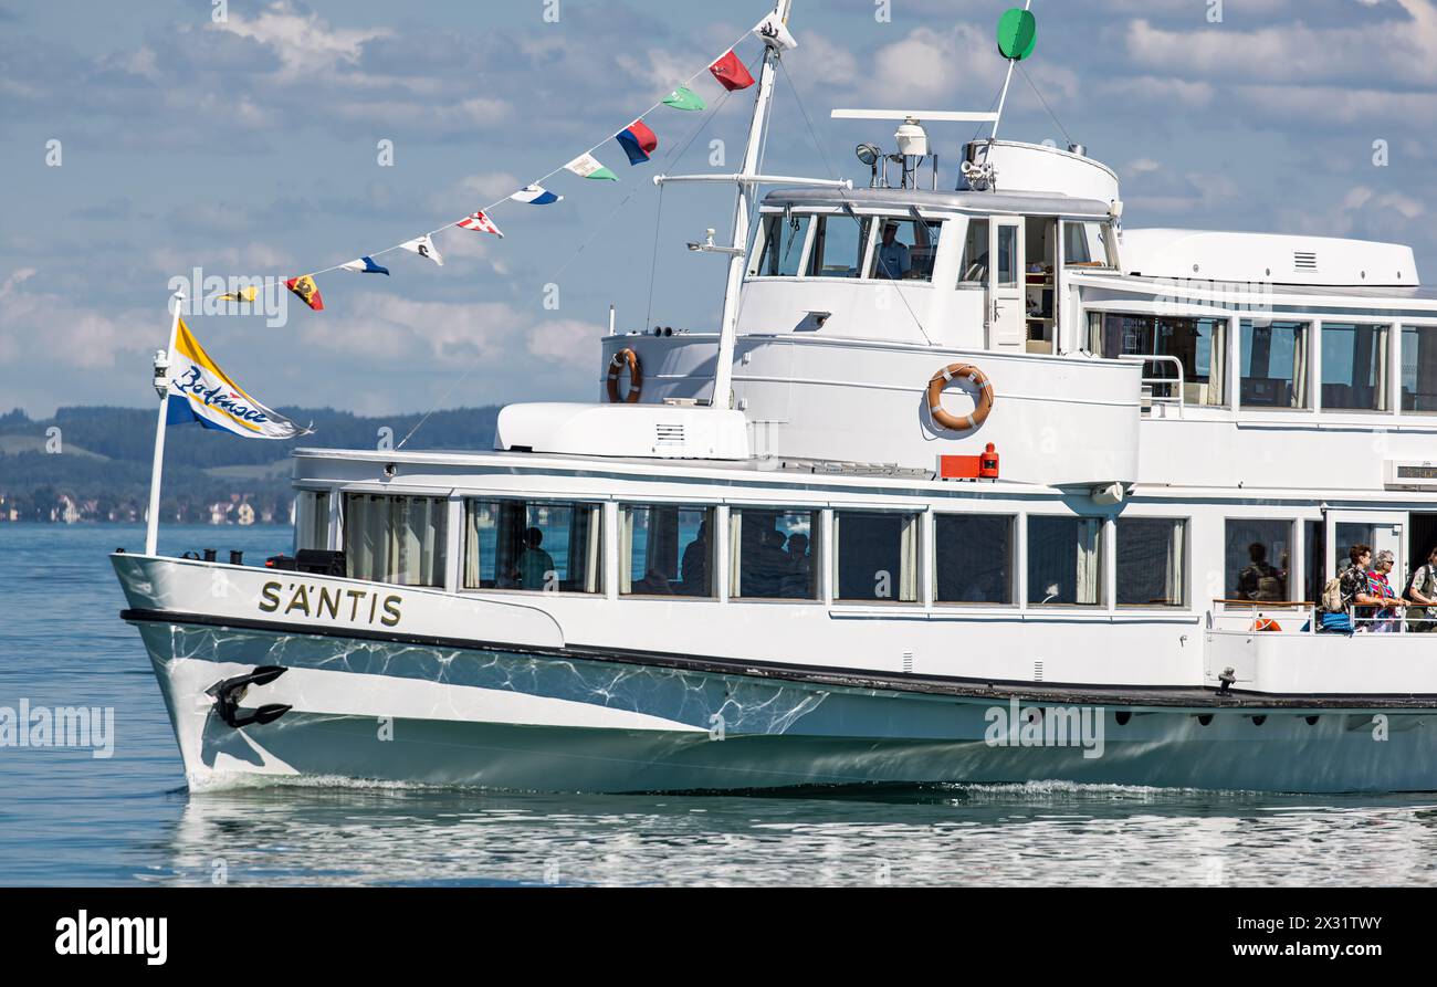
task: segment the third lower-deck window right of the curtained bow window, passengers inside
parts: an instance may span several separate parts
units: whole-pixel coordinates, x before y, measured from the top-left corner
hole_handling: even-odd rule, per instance
[[[730,595],[818,599],[818,513],[734,509],[729,514]]]

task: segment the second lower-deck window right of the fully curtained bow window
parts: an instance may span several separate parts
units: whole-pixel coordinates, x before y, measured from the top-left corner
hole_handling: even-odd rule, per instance
[[[619,592],[713,596],[714,509],[667,504],[619,510]]]

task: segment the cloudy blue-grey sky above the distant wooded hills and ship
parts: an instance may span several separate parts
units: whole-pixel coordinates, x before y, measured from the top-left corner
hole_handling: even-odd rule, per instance
[[[882,22],[874,0],[798,0],[766,168],[864,180],[852,147],[891,129],[835,106],[989,109],[1007,6],[891,0]],[[230,0],[214,23],[211,0],[0,0],[0,409],[149,404],[172,276],[290,276],[456,220],[621,129],[769,7],[559,0],[547,23],[546,0]],[[1036,0],[1027,66],[1061,126],[1019,78],[1004,136],[1086,144],[1122,177],[1128,227],[1397,240],[1437,279],[1437,0],[1211,7]],[[621,329],[716,325],[723,261],[684,243],[727,230],[731,191],[665,191],[655,261],[650,178],[710,170],[711,138],[731,171],[750,109],[736,93],[674,161],[703,121],[661,108],[654,164],[599,148],[621,182],[560,175],[563,203],[494,210],[503,241],[445,231],[443,270],[391,256],[389,279],[322,277],[323,313],[191,328],[273,405],[591,399],[611,302]],[[931,132],[951,187],[973,131]]]

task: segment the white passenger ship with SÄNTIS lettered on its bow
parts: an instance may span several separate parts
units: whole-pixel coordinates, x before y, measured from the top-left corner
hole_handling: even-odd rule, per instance
[[[1124,230],[1078,147],[940,182],[987,115],[763,175],[779,57],[717,332],[493,451],[296,453],[300,569],[114,556],[191,786],[1437,789],[1437,636],[1315,632],[1349,545],[1437,543],[1413,251]]]

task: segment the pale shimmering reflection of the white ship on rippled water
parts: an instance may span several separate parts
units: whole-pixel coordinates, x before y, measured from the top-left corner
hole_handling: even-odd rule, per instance
[[[188,799],[208,884],[1437,884],[1437,806],[1029,784],[763,797],[282,786]],[[223,861],[223,865],[218,862]]]

